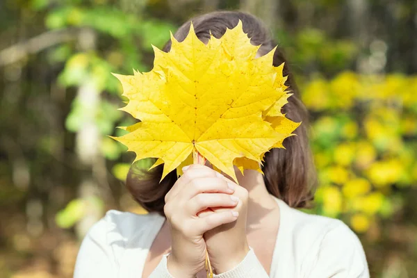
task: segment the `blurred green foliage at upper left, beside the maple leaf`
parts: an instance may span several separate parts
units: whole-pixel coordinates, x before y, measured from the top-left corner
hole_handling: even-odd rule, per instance
[[[39,1],[36,3],[40,8],[47,7],[44,2],[43,6]],[[45,17],[45,24],[50,29],[88,27],[95,32],[95,37],[92,37],[95,42],[90,42],[88,50],[63,44],[49,54],[50,63],[65,61],[65,67],[58,76],[60,85],[71,88],[92,83],[99,94],[115,94],[117,97],[120,97],[120,83],[111,72],[131,72],[132,68],[147,70],[147,66],[142,63],[141,53],[152,51],[151,44],[162,47],[169,31],[174,30],[172,24],[155,18],[147,19],[115,7],[88,8],[76,2],[55,6]],[[107,43],[103,50],[96,48],[101,40],[108,41],[108,36],[111,43]],[[133,123],[126,115],[117,111],[117,101],[108,101],[106,98],[99,97],[98,107],[92,108],[91,104],[75,97],[65,120],[66,129],[78,132],[85,120],[92,118],[101,135],[106,136],[113,133],[117,122]],[[117,131],[117,135],[120,133],[123,131]],[[111,142],[105,137],[101,139],[100,152],[109,160],[120,158],[124,151],[126,148],[119,143]],[[116,166],[113,173],[121,179],[124,168]]]

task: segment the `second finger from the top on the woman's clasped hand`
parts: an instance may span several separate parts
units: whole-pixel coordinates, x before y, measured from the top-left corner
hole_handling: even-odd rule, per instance
[[[236,186],[218,177],[202,177],[191,180],[181,190],[181,195],[191,199],[199,193],[233,194]]]

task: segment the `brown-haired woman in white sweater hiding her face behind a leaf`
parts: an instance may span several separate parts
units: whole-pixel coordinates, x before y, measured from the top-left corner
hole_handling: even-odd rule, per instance
[[[251,42],[261,44],[258,56],[275,47],[259,19],[246,13],[192,21],[206,43],[210,33],[220,38],[239,19]],[[190,22],[183,24],[174,37],[182,41],[189,28]],[[273,65],[284,62],[277,49]],[[294,93],[284,112],[303,124],[298,136],[284,141],[286,149],[265,155],[265,176],[236,170],[238,186],[207,163],[185,167],[179,179],[171,172],[159,183],[162,165],[140,174],[132,168],[127,186],[149,214],[108,211],[83,240],[74,277],[206,277],[206,251],[215,277],[369,277],[361,243],[343,222],[295,209],[313,199],[315,174],[308,117],[288,63],[284,75]]]

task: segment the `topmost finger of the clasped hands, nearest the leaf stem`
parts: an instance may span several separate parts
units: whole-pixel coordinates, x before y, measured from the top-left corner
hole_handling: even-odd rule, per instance
[[[192,179],[198,177],[217,177],[216,173],[217,172],[215,172],[213,169],[201,164],[190,165],[184,174],[179,177],[174,186],[172,186],[171,190],[165,195],[165,203],[173,197],[177,196],[179,191],[183,189],[184,185],[189,183]]]

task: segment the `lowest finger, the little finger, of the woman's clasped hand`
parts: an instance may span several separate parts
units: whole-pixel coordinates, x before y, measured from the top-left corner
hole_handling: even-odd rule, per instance
[[[198,234],[204,234],[206,231],[210,231],[215,227],[219,227],[222,224],[227,224],[236,221],[239,213],[237,211],[222,211],[219,213],[211,213],[204,218],[198,218],[195,220],[194,227],[197,229]]]

